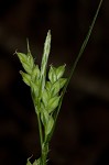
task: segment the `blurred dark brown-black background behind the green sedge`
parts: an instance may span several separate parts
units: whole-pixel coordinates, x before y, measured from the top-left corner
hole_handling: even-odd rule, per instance
[[[67,77],[99,0],[0,1],[0,165],[40,156],[37,121],[15,50],[26,37],[40,64],[52,31],[48,64]],[[109,165],[109,1],[103,0],[88,46],[70,80],[51,143],[50,165]]]

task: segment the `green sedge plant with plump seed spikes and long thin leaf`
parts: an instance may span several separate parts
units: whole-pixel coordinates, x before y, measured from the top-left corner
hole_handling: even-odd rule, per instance
[[[81,48],[77,55],[75,63],[73,64],[72,72],[68,78],[64,78],[65,65],[54,67],[50,66],[47,72],[47,61],[51,51],[51,31],[47,32],[47,36],[44,43],[44,52],[42,56],[41,67],[35,64],[34,58],[31,54],[29,42],[28,42],[28,53],[19,53],[17,55],[25,70],[20,72],[23,81],[31,89],[31,97],[34,105],[34,109],[37,116],[40,142],[41,142],[41,156],[31,163],[28,158],[26,165],[46,165],[47,156],[50,152],[50,142],[53,136],[58,112],[62,106],[62,101],[69,84],[69,80],[74,74],[79,58],[81,57],[85,47],[88,43],[89,36],[94,29],[95,21],[97,19],[99,9],[101,7],[102,0],[100,0],[89,31],[86,38],[81,45]]]

